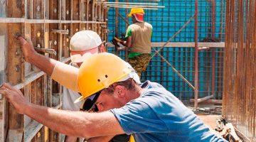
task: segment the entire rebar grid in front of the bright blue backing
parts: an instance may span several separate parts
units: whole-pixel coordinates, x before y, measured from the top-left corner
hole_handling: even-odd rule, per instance
[[[119,0],[119,2],[127,2]],[[137,1],[128,1],[137,2]],[[150,1],[139,1],[147,2]],[[152,1],[151,1],[152,2]],[[156,3],[156,2],[154,2]],[[153,26],[152,42],[166,43],[177,31],[183,27],[189,18],[195,14],[194,0],[175,0],[158,1],[164,9],[150,10],[144,9],[144,20]],[[208,0],[198,0],[198,42],[219,42],[224,41],[225,28],[225,1],[215,0],[215,17],[213,18],[213,2]],[[129,13],[127,9],[119,9],[121,16],[115,16],[115,9],[109,11],[109,27],[112,33],[109,33],[111,40],[114,35],[125,33],[127,23],[123,18]],[[131,18],[129,24],[132,23]],[[119,21],[118,23],[115,23]],[[215,21],[215,22],[213,22]],[[213,23],[215,26],[213,26]],[[213,28],[215,27],[215,28]],[[118,33],[115,29],[118,29]],[[171,42],[195,42],[195,20],[192,19],[181,33],[178,33]],[[154,47],[159,50],[161,47]],[[202,47],[198,47],[202,48]],[[209,47],[206,47],[209,49]],[[222,99],[223,93],[223,49],[216,48],[215,52],[210,50],[198,51],[198,99],[215,94],[213,99]],[[110,53],[116,53],[117,49],[109,48]],[[156,52],[152,50],[152,55]],[[215,53],[215,55],[214,55]],[[124,58],[124,51],[118,51],[118,55]],[[164,61],[164,57],[166,61]],[[142,81],[151,80],[163,84],[166,89],[171,91],[183,102],[194,99],[194,89],[191,88],[180,76],[170,67],[168,63],[175,67],[181,75],[192,85],[195,84],[195,50],[190,48],[170,48],[164,47],[159,51],[159,55],[152,58],[146,72],[142,74]],[[214,60],[213,60],[214,59]],[[213,68],[215,70],[213,70]],[[215,72],[215,75],[213,74]],[[214,80],[214,81],[213,81]],[[214,89],[212,89],[214,87]]]

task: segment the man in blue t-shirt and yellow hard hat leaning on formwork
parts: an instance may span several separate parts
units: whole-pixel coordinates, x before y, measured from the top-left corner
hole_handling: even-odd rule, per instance
[[[28,51],[28,50],[27,50]],[[25,56],[26,57],[26,56]],[[76,75],[82,97],[91,99],[90,111],[65,111],[28,102],[21,91],[9,84],[0,93],[19,114],[26,114],[48,128],[68,136],[97,138],[121,133],[132,134],[135,141],[209,142],[225,141],[215,136],[198,116],[161,84],[137,84],[126,62],[110,53],[91,55],[80,69],[70,66],[63,76]],[[53,64],[54,65],[54,64]],[[63,73],[63,72],[62,72]],[[90,98],[88,98],[90,97]]]

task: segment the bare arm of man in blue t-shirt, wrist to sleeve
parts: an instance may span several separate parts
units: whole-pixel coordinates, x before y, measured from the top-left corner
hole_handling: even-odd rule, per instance
[[[64,111],[31,103],[22,105],[22,107],[23,114],[48,126],[53,131],[68,136],[92,138],[124,133],[114,114],[110,111],[100,113]]]

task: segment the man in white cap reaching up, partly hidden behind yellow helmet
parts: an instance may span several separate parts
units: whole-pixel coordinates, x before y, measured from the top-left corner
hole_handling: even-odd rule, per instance
[[[28,43],[22,37],[19,37],[18,40],[20,40],[21,44],[23,45],[22,50],[26,61],[31,62],[33,65],[36,65],[38,68],[46,72],[47,75],[50,75],[50,77],[53,80],[59,82],[64,86],[63,109],[73,111],[78,111],[80,109],[88,111],[88,109],[86,109],[87,107],[85,107],[86,102],[82,101],[78,102],[78,104],[73,103],[75,99],[78,99],[78,97],[80,97],[80,94],[78,94],[78,85],[76,83],[76,75],[78,73],[78,70],[72,70],[73,67],[71,67],[70,65],[66,65],[63,62],[58,62],[50,58],[46,58],[45,56],[36,53],[36,51],[33,50],[33,45],[31,45],[31,43]],[[104,48],[102,47],[102,40],[100,39],[100,36],[97,35],[97,33],[95,33],[94,31],[80,31],[78,33],[75,33],[75,35],[73,35],[73,37],[70,40],[70,58],[72,61],[71,64],[75,65],[76,67],[80,67],[82,62],[85,62],[86,59],[90,57],[90,55],[98,53],[99,48],[101,51]],[[137,84],[139,84],[139,76],[137,75],[135,70],[132,68],[131,65],[129,65],[129,63],[126,62],[126,65],[127,67],[132,69],[131,74],[134,77],[134,81],[137,82]],[[70,78],[65,77],[65,74],[70,75]],[[82,106],[80,106],[81,104]],[[110,140],[115,142],[126,142],[127,139],[129,139],[129,136],[122,134],[119,136],[114,136],[114,138],[106,136],[91,138],[90,141]],[[65,138],[65,141],[75,140],[76,137],[69,136]]]

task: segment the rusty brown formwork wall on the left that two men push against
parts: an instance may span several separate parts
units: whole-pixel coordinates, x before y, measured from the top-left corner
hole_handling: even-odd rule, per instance
[[[97,0],[0,0],[0,84],[21,89],[29,102],[60,109],[62,86],[23,60],[16,35],[31,39],[34,48],[55,51],[38,53],[68,63],[76,32],[92,30],[107,40],[107,11]],[[0,141],[61,141],[60,133],[17,114],[1,95],[0,119]]]

